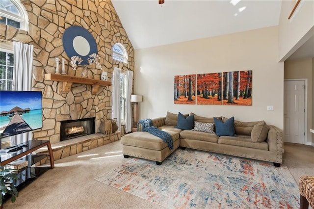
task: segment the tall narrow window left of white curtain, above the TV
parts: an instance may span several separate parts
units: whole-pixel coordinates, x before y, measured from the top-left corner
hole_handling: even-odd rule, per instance
[[[1,50],[0,52],[0,90],[12,90],[13,69],[14,69],[13,52]]]

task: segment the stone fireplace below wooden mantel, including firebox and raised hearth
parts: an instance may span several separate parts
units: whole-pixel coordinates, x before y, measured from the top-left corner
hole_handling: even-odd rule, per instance
[[[33,138],[51,141],[54,160],[120,140],[120,131],[107,135],[99,131],[101,121],[111,117],[111,86],[101,86],[93,94],[91,85],[73,83],[64,92],[62,82],[44,83],[43,128],[33,131]]]

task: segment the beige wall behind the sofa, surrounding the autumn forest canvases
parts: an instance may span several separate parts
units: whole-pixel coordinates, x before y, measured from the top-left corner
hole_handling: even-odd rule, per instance
[[[253,71],[252,106],[174,104],[174,76],[241,70]],[[135,50],[134,74],[134,92],[143,95],[141,119],[180,111],[265,120],[283,128],[284,65],[278,63],[277,26]]]

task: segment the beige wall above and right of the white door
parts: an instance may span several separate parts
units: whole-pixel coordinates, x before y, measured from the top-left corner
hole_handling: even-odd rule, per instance
[[[298,59],[298,60],[287,60],[285,61],[285,79],[297,79],[297,78],[307,78],[308,86],[307,88],[307,144],[313,142],[313,136],[310,129],[313,128],[314,121],[314,107],[313,107],[313,60],[314,58]]]

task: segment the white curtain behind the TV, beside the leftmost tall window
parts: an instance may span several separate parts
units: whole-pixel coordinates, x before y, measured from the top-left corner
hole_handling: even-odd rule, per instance
[[[31,80],[33,74],[33,46],[14,41],[13,49],[13,90],[31,91]],[[31,131],[11,136],[11,146],[28,140],[32,140]]]

